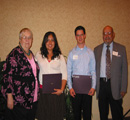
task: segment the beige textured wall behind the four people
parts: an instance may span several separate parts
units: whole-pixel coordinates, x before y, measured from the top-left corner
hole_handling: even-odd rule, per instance
[[[62,53],[68,56],[76,45],[75,27],[83,25],[86,28],[86,44],[93,49],[102,43],[103,27],[111,25],[116,33],[115,41],[126,46],[130,63],[129,13],[130,0],[0,0],[1,60],[18,45],[18,34],[24,27],[33,31],[34,54],[39,50],[44,34],[54,31]],[[128,94],[124,99],[124,111],[130,108]],[[93,101],[93,119],[98,120],[95,97]]]

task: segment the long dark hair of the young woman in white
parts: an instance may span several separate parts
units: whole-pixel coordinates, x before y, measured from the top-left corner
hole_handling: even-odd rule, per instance
[[[54,49],[53,49],[53,56],[52,56],[52,58],[51,58],[51,59],[53,60],[54,58],[59,57],[59,55],[61,54],[61,50],[60,50],[60,48],[59,48],[59,45],[58,45],[58,42],[57,42],[57,38],[56,38],[56,35],[55,35],[54,32],[49,31],[49,32],[47,32],[47,33],[44,35],[44,38],[43,38],[43,42],[42,42],[42,46],[41,46],[41,48],[40,48],[40,51],[41,51],[42,56],[48,58],[48,57],[47,57],[48,51],[47,51],[47,48],[46,48],[46,43],[47,43],[47,41],[48,41],[48,36],[49,36],[49,35],[52,35],[52,36],[53,36],[54,42],[55,42],[55,46],[54,46]]]

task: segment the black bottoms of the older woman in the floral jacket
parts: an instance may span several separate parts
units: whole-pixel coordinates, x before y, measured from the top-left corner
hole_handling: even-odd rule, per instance
[[[5,120],[34,120],[37,109],[37,102],[32,109],[25,109],[20,106],[14,106],[12,110],[6,108]]]

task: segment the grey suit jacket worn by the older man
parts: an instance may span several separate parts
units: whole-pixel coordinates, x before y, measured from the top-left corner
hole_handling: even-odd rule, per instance
[[[96,59],[96,75],[97,75],[97,98],[100,89],[100,64],[102,55],[103,44],[97,46],[94,49]],[[113,51],[118,52],[118,55],[112,54],[111,64],[111,90],[115,100],[121,98],[121,92],[127,92],[127,81],[128,81],[128,66],[126,49],[123,45],[113,42]]]

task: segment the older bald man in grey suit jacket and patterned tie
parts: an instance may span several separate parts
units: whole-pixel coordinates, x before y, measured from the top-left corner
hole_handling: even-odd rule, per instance
[[[123,120],[122,98],[127,92],[128,79],[127,56],[125,47],[114,42],[114,37],[113,28],[104,27],[104,43],[94,49],[101,120],[108,120],[109,105],[112,119]]]

